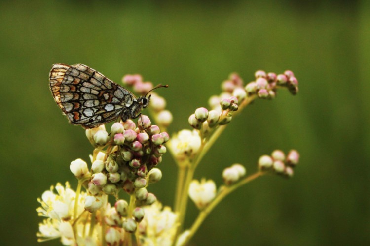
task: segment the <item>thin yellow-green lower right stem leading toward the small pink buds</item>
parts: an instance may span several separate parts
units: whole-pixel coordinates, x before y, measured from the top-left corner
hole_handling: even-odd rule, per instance
[[[264,172],[257,172],[254,173],[248,177],[246,177],[244,180],[238,182],[237,184],[234,184],[229,187],[224,187],[222,191],[217,195],[215,200],[213,200],[204,210],[202,210],[197,219],[194,221],[193,225],[190,227],[190,234],[189,237],[186,239],[184,245],[191,239],[192,236],[194,236],[195,232],[198,230],[199,226],[203,223],[204,219],[212,212],[212,210],[222,201],[223,198],[225,198],[228,194],[230,194],[235,189],[239,188],[240,186],[247,184],[255,179],[257,179],[259,176],[262,176]]]

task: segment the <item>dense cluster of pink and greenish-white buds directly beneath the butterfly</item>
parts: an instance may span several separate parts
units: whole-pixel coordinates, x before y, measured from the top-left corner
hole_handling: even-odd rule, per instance
[[[160,132],[145,115],[139,118],[138,126],[132,120],[114,123],[111,140],[106,137],[109,134],[104,125],[100,128],[97,132],[96,129],[86,130],[94,146],[108,146],[106,153],[99,152],[92,157],[90,193],[117,194],[118,187],[123,187],[131,194],[145,187],[148,174],[153,173],[150,170],[162,161],[162,154],[167,151],[163,144],[169,140],[168,133]]]

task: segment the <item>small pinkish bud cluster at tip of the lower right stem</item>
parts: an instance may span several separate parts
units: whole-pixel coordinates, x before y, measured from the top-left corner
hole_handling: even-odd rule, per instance
[[[299,153],[291,150],[287,156],[281,150],[275,150],[271,155],[262,155],[259,157],[258,165],[261,171],[272,171],[276,174],[292,177],[293,168],[298,164]]]

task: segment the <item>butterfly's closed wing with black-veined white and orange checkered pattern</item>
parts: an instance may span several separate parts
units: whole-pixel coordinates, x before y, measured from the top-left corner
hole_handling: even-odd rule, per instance
[[[75,64],[54,64],[50,71],[54,100],[73,124],[97,127],[117,119],[135,95],[94,69]]]

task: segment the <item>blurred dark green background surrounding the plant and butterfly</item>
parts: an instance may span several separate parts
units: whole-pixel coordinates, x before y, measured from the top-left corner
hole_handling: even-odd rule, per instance
[[[299,92],[258,100],[227,127],[196,178],[222,184],[235,162],[297,149],[295,177],[262,177],[232,193],[191,245],[370,244],[369,1],[1,1],[1,244],[39,245],[36,201],[92,147],[48,86],[53,63],[84,63],[116,82],[141,73],[167,99],[173,133],[238,72],[295,72]],[[176,167],[149,188],[173,204]],[[189,204],[186,226],[197,210]],[[50,241],[43,245],[59,245]]]

